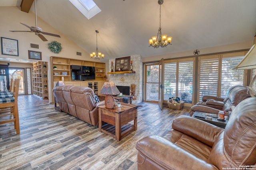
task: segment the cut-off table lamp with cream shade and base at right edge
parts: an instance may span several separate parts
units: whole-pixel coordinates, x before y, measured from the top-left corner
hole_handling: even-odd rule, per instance
[[[251,49],[246,53],[244,56],[244,59],[236,66],[234,67],[235,70],[243,70],[243,69],[253,69],[256,68],[256,44],[254,44]],[[252,88],[254,82],[256,80],[256,75],[250,82],[250,85],[248,86],[248,89],[250,90],[250,95],[252,97],[256,96],[255,90]]]

